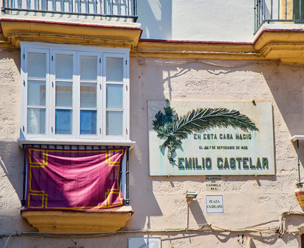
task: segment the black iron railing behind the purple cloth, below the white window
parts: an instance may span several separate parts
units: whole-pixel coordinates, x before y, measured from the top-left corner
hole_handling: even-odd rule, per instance
[[[47,148],[47,149],[111,149],[111,148],[120,148],[122,146],[112,146],[112,145],[28,145],[30,147],[38,147],[38,148]],[[26,158],[26,149],[27,145],[23,145],[24,150],[24,159],[23,159],[23,195],[21,200],[21,205],[24,207],[26,205],[26,180],[27,180],[27,158]],[[125,165],[121,169],[121,182],[120,189],[123,192],[123,196],[125,198],[125,205],[130,205],[129,198],[129,149],[130,147],[126,147],[125,154]],[[123,180],[124,179],[124,180]]]

